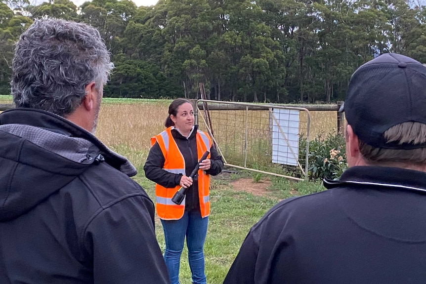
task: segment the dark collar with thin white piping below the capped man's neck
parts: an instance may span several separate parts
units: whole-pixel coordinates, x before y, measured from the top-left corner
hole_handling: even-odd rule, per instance
[[[426,192],[426,173],[384,166],[354,166],[346,169],[339,180],[325,178],[327,189],[341,186],[378,186]]]

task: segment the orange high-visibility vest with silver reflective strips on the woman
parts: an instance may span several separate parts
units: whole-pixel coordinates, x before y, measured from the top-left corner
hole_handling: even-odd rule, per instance
[[[165,162],[163,169],[176,174],[185,173],[185,159],[182,153],[177,147],[176,141],[174,141],[171,135],[171,129],[173,126],[168,127],[160,134],[151,137],[151,147],[158,143],[161,152],[163,153]],[[206,151],[210,151],[212,146],[212,140],[203,131],[197,130],[196,133],[197,141],[197,156],[198,160],[201,159]],[[210,158],[210,154],[208,156]],[[204,218],[210,214],[210,199],[209,199],[209,188],[210,188],[210,176],[204,172],[204,170],[198,170],[198,196],[200,201],[201,216]],[[156,195],[156,208],[158,216],[163,220],[178,220],[182,218],[185,211],[185,199],[183,199],[180,205],[177,205],[171,201],[173,195],[180,189],[177,185],[174,188],[166,188],[159,184],[155,186]]]

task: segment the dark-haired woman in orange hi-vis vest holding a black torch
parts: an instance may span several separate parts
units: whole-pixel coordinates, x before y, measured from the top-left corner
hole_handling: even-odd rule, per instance
[[[210,175],[223,167],[212,140],[194,125],[194,110],[186,99],[175,99],[169,106],[166,130],[151,138],[151,150],[143,167],[145,176],[156,183],[156,208],[166,241],[164,260],[171,284],[179,284],[179,265],[184,240],[188,247],[192,283],[205,284],[204,242],[210,214]],[[189,177],[199,159],[198,174]],[[180,188],[187,188],[183,202],[177,205],[171,198]]]

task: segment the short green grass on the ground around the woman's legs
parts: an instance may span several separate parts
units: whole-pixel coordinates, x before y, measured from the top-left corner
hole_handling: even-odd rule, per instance
[[[271,186],[264,196],[235,191],[230,183],[238,178],[250,178],[250,173],[232,173],[223,178],[212,177],[211,215],[205,243],[206,275],[210,284],[221,284],[237,255],[250,228],[280,200],[324,190],[320,181],[294,182],[284,178],[271,177]],[[268,176],[269,177],[269,176]],[[144,177],[142,168],[134,179],[155,200],[155,184]],[[164,251],[164,234],[160,220],[156,217],[156,234],[160,248]],[[191,284],[186,246],[180,262],[180,283]]]

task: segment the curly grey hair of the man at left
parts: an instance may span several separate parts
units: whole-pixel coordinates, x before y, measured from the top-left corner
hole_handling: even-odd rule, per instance
[[[101,90],[114,64],[99,32],[61,19],[36,20],[15,46],[11,93],[17,107],[67,117],[82,103],[85,86]]]

